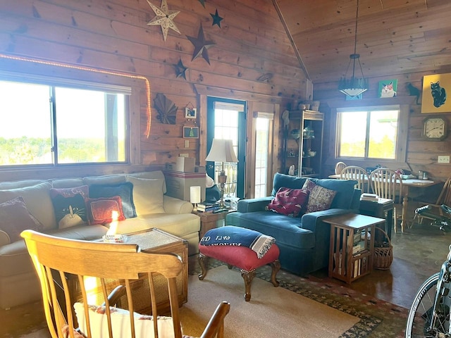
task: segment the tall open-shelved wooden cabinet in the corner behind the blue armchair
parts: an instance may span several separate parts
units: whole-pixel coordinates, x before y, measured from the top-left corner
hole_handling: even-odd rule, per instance
[[[290,111],[290,124],[285,130],[283,168],[289,174],[294,165],[295,176],[319,177],[323,148],[323,113]]]

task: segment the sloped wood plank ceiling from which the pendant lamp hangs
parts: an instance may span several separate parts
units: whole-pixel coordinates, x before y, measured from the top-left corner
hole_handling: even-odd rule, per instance
[[[357,0],[273,2],[307,77],[323,83],[344,76],[354,53]],[[451,0],[359,0],[357,54],[364,76],[449,72],[450,16]]]

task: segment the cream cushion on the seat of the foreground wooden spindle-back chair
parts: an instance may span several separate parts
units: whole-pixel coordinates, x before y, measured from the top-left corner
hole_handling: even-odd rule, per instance
[[[80,331],[87,332],[85,306],[73,305],[77,315]],[[105,306],[88,306],[92,337],[109,337]],[[113,337],[130,337],[130,312],[121,308],[110,307]],[[152,315],[133,313],[135,317],[135,337],[154,337],[154,318]],[[159,337],[174,337],[174,325],[171,317],[157,317]]]

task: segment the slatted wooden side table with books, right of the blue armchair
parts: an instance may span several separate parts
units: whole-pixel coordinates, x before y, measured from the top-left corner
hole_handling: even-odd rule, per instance
[[[385,220],[347,213],[323,221],[330,224],[329,277],[350,284],[371,273],[375,227]]]

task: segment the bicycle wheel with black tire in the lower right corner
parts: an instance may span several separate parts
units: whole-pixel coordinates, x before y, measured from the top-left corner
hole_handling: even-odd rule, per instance
[[[438,304],[438,318],[435,327],[428,332],[431,325],[432,306],[437,292],[438,273],[429,277],[419,288],[409,315],[407,316],[406,338],[414,337],[450,337],[448,332],[450,315],[450,295],[445,292]],[[445,284],[447,286],[447,284]],[[440,292],[441,293],[441,292]]]

